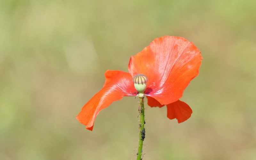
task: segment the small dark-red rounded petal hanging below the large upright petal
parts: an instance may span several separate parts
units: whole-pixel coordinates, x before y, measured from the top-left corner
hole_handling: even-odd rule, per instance
[[[192,109],[180,100],[167,104],[167,117],[170,119],[176,118],[178,123],[186,121],[192,114]]]

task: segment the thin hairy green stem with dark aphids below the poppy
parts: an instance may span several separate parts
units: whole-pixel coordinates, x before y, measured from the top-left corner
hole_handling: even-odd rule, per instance
[[[137,160],[141,160],[143,141],[144,141],[144,138],[145,138],[144,97],[140,98],[139,112],[140,112],[140,124],[139,124],[139,126],[140,126],[140,137],[139,137],[139,147],[138,147],[138,153],[137,153]]]

